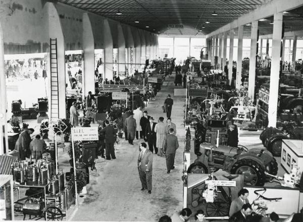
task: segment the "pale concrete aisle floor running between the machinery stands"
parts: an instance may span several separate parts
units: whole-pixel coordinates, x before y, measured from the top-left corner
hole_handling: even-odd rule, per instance
[[[162,105],[167,94],[174,94],[174,75],[167,79],[156,100],[148,103],[148,115],[158,120],[166,114]],[[180,86],[178,86],[181,88]],[[175,170],[167,174],[164,157],[154,154],[153,190],[151,194],[140,191],[141,183],[138,176],[138,148],[143,139],[134,140],[129,145],[121,139],[116,145],[115,160],[98,163],[97,175],[91,175],[87,185],[87,195],[80,198],[79,209],[71,220],[103,220],[103,221],[158,221],[165,214],[173,214],[182,209],[183,182],[183,151],[185,130],[183,127],[184,99],[174,99],[172,122],[177,126],[179,148],[175,157]]]

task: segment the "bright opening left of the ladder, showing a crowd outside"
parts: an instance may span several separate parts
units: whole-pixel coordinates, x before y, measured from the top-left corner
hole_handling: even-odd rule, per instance
[[[47,53],[6,54],[4,58],[9,116],[14,111],[12,103],[21,100],[24,118],[36,119],[38,98],[49,96]]]

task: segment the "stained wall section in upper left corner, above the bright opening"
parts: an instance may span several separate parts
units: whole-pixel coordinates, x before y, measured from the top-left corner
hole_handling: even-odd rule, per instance
[[[5,54],[48,51],[48,14],[38,0],[2,0],[0,22]]]

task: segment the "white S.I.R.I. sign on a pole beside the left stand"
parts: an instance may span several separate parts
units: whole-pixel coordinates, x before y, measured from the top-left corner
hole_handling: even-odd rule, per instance
[[[72,128],[73,141],[99,140],[97,127],[74,127]]]

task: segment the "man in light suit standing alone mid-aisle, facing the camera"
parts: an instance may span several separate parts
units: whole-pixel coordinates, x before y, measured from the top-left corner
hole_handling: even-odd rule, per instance
[[[153,153],[147,149],[146,143],[140,144],[140,154],[138,157],[138,171],[142,185],[142,191],[148,190],[151,194],[151,182],[153,176]]]

